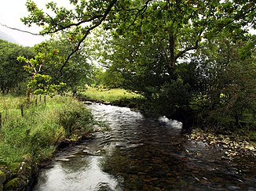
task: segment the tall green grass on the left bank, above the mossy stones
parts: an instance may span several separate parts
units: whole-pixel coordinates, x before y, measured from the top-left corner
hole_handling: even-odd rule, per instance
[[[90,112],[71,97],[47,97],[46,105],[43,102],[26,105],[22,117],[20,104],[25,104],[25,100],[25,97],[0,96],[0,164],[44,160],[64,139],[75,139],[92,130]]]

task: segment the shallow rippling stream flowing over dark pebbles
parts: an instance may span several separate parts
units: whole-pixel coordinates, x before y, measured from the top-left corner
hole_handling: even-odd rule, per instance
[[[56,154],[33,190],[256,190],[256,162],[188,141],[182,124],[118,106],[88,106],[112,129]]]

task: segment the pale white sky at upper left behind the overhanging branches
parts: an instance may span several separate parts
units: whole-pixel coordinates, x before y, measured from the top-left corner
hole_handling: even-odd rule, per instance
[[[39,9],[45,9],[45,4],[52,0],[34,0]],[[30,31],[32,33],[38,33],[40,28],[36,26],[26,27],[24,23],[20,21],[21,17],[27,16],[26,4],[27,0],[2,0],[0,6],[0,23],[7,25],[8,27],[18,28],[23,31]],[[69,5],[68,0],[55,0],[58,5]],[[45,38],[38,35],[27,34],[20,31],[8,29],[0,25],[0,31],[5,32],[12,36],[20,45],[33,46],[40,43]]]

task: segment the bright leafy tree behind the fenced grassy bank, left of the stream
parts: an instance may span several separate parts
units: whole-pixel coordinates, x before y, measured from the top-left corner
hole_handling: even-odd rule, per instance
[[[85,46],[85,43],[82,45]],[[35,45],[34,49],[37,53],[35,58],[25,59],[24,56],[18,58],[20,62],[27,64],[24,68],[31,73],[27,100],[31,89],[35,94],[50,94],[65,86],[75,93],[79,85],[89,83],[92,67],[87,63],[86,52],[75,52],[69,63],[63,65],[73,48],[74,42],[67,35],[62,35],[60,38],[52,38]]]

